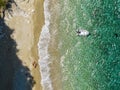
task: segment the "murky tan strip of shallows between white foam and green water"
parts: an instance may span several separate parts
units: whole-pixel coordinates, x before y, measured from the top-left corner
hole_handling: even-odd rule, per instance
[[[50,78],[52,79],[52,87],[53,90],[62,90],[62,72],[60,66],[61,54],[59,51],[59,24],[60,24],[60,8],[59,1],[52,0],[50,2],[49,8],[51,13],[51,26],[50,26],[50,34],[51,39],[49,43],[49,53],[50,60],[52,63],[50,64]]]

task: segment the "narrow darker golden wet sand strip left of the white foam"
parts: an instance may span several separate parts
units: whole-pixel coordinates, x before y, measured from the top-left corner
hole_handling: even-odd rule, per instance
[[[42,26],[44,25],[44,9],[43,9],[43,3],[44,0],[37,0],[35,1],[35,14],[33,15],[33,22],[36,23],[34,24],[34,45],[31,49],[32,56],[35,58],[35,60],[38,62],[39,60],[39,54],[38,54],[38,42],[39,42],[39,37],[40,37],[40,32],[42,30]],[[37,15],[37,16],[36,16]],[[38,23],[37,23],[38,22]],[[35,89],[34,90],[42,90],[41,86],[41,74],[40,74],[40,68],[39,64],[36,67],[36,69],[32,70],[32,75],[34,76],[35,81],[38,84],[35,84]],[[38,80],[39,79],[39,80]]]

